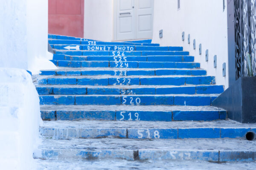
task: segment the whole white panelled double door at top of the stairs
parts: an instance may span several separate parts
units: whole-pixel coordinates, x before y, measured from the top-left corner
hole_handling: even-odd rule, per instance
[[[152,38],[154,0],[115,0],[116,40]]]

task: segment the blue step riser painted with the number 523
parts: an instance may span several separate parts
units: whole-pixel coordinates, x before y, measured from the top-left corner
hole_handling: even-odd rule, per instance
[[[132,70],[132,71],[41,71],[41,75],[60,75],[60,76],[163,76],[163,75],[189,75],[189,76],[204,76],[205,70]]]

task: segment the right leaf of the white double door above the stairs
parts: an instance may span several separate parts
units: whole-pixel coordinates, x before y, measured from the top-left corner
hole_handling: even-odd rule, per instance
[[[135,0],[136,38],[151,38],[153,35],[154,0]]]

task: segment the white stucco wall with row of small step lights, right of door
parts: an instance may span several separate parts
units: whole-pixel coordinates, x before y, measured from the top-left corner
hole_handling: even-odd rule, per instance
[[[227,6],[227,2],[226,6]],[[159,38],[159,30],[163,29],[163,38]],[[182,41],[182,32],[185,41]],[[190,44],[188,44],[190,34]],[[193,40],[196,49],[193,49]],[[207,70],[207,75],[215,76],[216,84],[228,87],[227,56],[227,8],[223,11],[223,0],[154,0],[153,43],[161,46],[183,46],[195,56],[195,62]],[[199,44],[202,54],[199,55]],[[205,51],[209,50],[209,60],[205,61]],[[213,67],[213,56],[217,55],[217,68]],[[226,62],[226,77],[222,77],[222,64]]]

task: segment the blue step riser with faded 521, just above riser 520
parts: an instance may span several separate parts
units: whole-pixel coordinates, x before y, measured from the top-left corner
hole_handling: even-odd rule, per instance
[[[177,88],[53,88],[36,87],[39,95],[221,94],[222,85]]]

